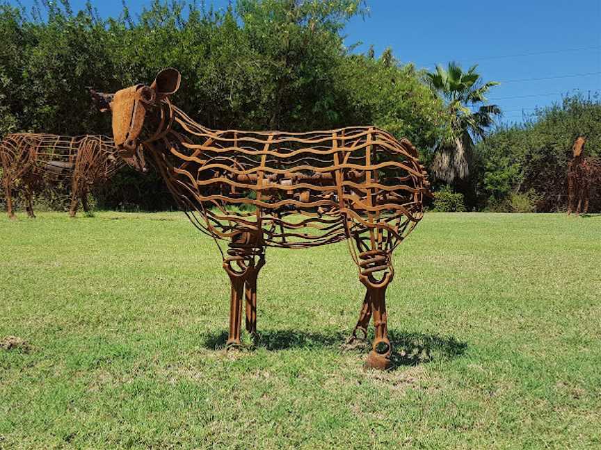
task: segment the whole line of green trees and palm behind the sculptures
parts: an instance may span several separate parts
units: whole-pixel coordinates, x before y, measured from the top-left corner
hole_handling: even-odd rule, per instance
[[[495,82],[454,63],[428,74],[390,49],[377,57],[373,48],[356,53],[344,44],[344,26],[366,13],[361,0],[238,0],[226,10],[154,0],[136,17],[124,3],[118,17],[102,18],[91,3],[74,11],[68,0],[42,0],[31,10],[5,2],[0,134],[110,135],[109,119],[97,113],[86,86],[114,92],[176,67],[182,86],[173,101],[205,126],[307,131],[376,124],[411,140],[441,197],[458,195],[467,209],[500,207],[526,188],[538,189],[527,181],[536,158],[523,156],[534,150],[524,146],[536,145],[535,163],[543,164],[543,154],[571,147],[575,128],[566,122],[554,131],[563,133],[555,147],[524,136],[544,135],[538,122],[570,115],[580,100],[541,111],[537,124],[491,133],[502,113],[486,101]],[[127,169],[96,199],[104,208],[175,207],[156,176]]]

